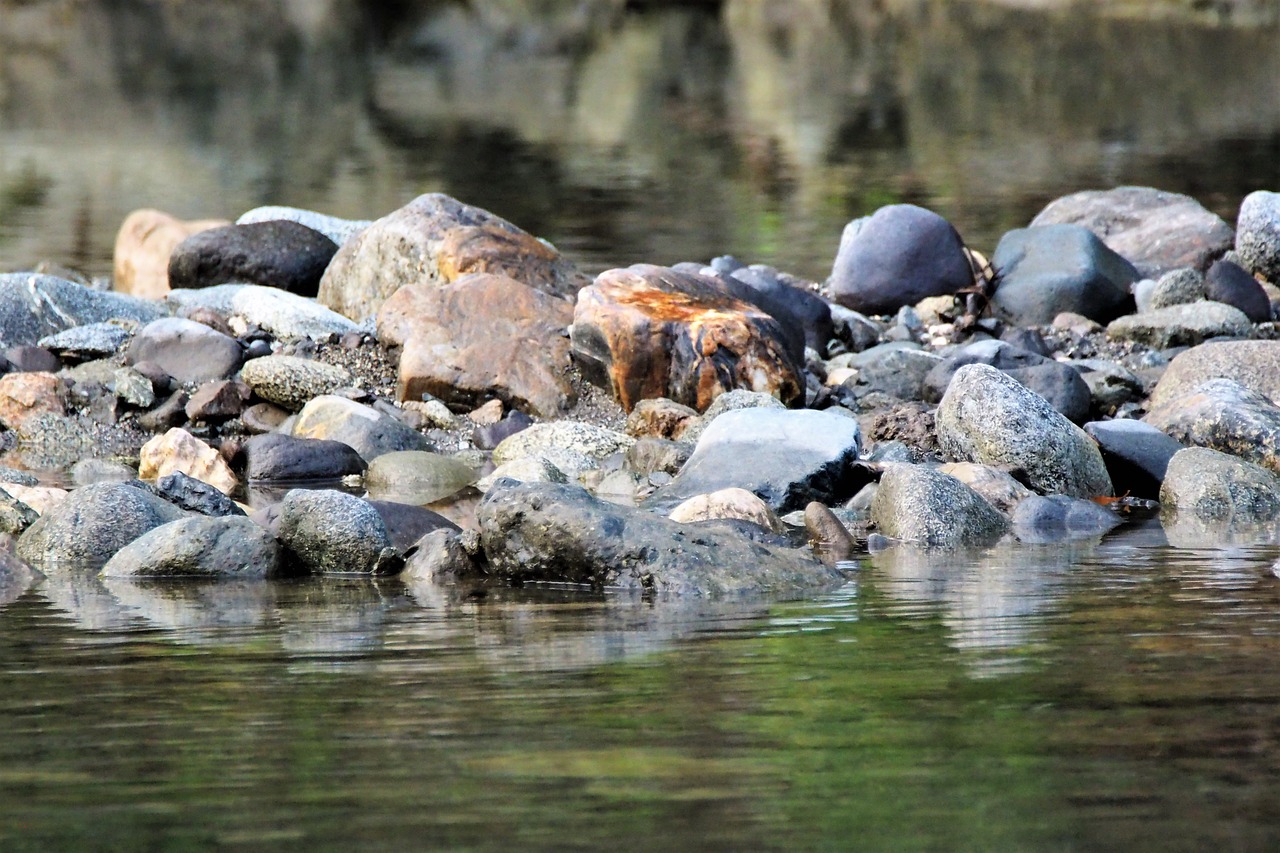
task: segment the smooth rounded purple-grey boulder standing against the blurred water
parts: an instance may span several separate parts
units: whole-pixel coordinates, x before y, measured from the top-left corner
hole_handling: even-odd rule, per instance
[[[924,207],[890,205],[845,228],[829,287],[845,307],[892,314],[973,282],[964,241],[951,223]]]

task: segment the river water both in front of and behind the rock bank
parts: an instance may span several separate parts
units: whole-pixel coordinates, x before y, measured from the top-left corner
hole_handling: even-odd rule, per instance
[[[588,269],[822,278],[893,201],[989,251],[1074,190],[1280,188],[1275,28],[383,5],[0,0],[0,270],[108,275],[140,206],[444,191]],[[800,602],[15,580],[0,849],[1276,849],[1277,542],[897,548]]]

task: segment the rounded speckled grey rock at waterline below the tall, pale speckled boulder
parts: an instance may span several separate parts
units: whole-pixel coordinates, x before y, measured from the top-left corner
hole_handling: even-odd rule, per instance
[[[1009,532],[1009,520],[960,480],[901,462],[884,466],[872,521],[883,535],[943,548],[989,544]]]

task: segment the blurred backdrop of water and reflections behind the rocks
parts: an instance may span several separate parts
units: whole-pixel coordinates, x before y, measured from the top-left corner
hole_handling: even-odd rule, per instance
[[[983,251],[1140,183],[1280,188],[1280,0],[0,0],[0,272],[110,273],[136,207],[443,191],[590,272],[822,279],[909,201]]]

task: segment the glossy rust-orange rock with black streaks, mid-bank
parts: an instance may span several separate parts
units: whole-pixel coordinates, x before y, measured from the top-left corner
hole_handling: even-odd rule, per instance
[[[628,412],[652,397],[705,411],[735,388],[787,405],[804,394],[777,320],[710,278],[666,266],[600,273],[579,292],[572,342],[588,375],[609,386]]]

